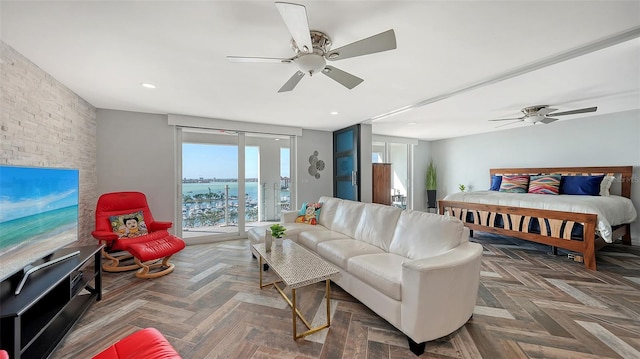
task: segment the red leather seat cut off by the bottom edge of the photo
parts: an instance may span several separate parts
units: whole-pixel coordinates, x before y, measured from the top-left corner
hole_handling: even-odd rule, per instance
[[[171,343],[155,328],[146,328],[120,339],[93,359],[180,359]]]

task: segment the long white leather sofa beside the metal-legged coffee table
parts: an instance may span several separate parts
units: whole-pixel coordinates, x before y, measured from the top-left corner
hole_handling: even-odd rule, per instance
[[[469,320],[482,246],[469,242],[460,220],[332,197],[319,202],[317,225],[283,212],[285,237],[338,266],[335,283],[406,334],[414,353]],[[250,242],[264,241],[267,228],[249,230]]]

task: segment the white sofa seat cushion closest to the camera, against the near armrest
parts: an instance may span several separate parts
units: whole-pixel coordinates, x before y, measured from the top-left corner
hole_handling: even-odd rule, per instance
[[[407,258],[393,253],[365,254],[349,259],[347,270],[387,297],[402,299],[402,263]]]

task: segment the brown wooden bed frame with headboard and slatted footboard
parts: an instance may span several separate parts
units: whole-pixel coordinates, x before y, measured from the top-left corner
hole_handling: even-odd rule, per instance
[[[616,176],[616,181],[621,181],[620,195],[627,198],[631,197],[632,166],[493,168],[489,172],[492,176],[537,174],[562,174],[564,176],[612,175]],[[607,244],[596,235],[597,215],[595,214],[445,200],[438,201],[438,210],[439,213],[449,212],[450,215],[461,219],[465,222],[465,226],[472,231],[496,233],[547,244],[552,246],[554,254],[557,254],[557,248],[581,253],[584,257],[585,267],[592,270],[596,270],[595,251]],[[473,223],[467,222],[469,213],[472,214]],[[493,226],[497,215],[502,215],[503,228]],[[550,230],[547,229],[547,226],[541,225],[539,234],[529,232],[529,222],[532,219],[537,219],[539,223],[544,223],[546,220]],[[571,229],[575,224],[583,226],[581,240],[571,238]],[[562,230],[563,226],[564,230]],[[623,244],[631,245],[630,230],[631,226],[628,223],[613,229],[612,239],[615,240],[622,237]]]

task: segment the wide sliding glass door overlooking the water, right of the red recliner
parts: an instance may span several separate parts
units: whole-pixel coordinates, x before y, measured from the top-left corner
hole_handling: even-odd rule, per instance
[[[189,243],[226,240],[244,237],[252,226],[278,221],[291,199],[288,140],[182,129],[182,237]]]

